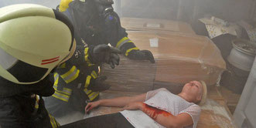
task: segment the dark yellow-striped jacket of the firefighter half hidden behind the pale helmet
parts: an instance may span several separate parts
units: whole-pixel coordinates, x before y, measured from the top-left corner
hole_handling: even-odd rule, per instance
[[[93,86],[98,76],[98,65],[90,61],[90,49],[77,45],[72,58],[61,64],[54,73],[55,93],[53,97],[63,102],[70,102],[70,96],[74,93],[83,92],[84,95],[77,97],[80,102],[90,99],[93,101],[99,96],[99,92],[89,89]]]

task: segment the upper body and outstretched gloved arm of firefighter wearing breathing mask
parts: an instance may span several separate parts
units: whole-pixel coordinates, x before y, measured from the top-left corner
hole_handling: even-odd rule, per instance
[[[78,44],[81,39],[88,45],[110,43],[129,59],[154,63],[152,52],[139,50],[128,39],[128,34],[121,27],[120,19],[112,8],[113,3],[113,0],[61,0],[59,10],[73,22]]]

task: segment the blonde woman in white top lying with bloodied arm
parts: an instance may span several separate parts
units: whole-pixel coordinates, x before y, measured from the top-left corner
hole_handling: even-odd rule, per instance
[[[104,116],[95,116],[63,127],[193,127],[200,118],[200,106],[207,99],[203,81],[192,81],[183,86],[178,95],[167,89],[155,89],[138,96],[101,99],[88,103],[86,111],[97,106],[118,106],[125,110]]]

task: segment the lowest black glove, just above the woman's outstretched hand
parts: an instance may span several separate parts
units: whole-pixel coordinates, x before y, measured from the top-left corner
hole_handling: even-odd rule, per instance
[[[94,92],[101,92],[104,90],[109,89],[111,86],[104,83],[104,81],[107,79],[107,76],[100,76],[94,79],[94,82],[91,82],[92,84],[88,87],[88,89],[91,89]]]

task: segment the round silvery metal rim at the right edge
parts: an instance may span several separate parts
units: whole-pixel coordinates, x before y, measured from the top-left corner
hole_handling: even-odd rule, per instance
[[[235,39],[232,45],[233,49],[227,61],[238,69],[250,72],[256,56],[256,44],[244,39]]]

